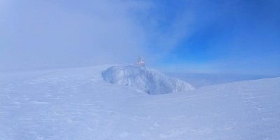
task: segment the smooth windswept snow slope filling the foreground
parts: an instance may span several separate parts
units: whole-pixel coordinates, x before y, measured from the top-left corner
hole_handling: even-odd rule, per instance
[[[152,96],[109,66],[0,76],[0,139],[279,139],[280,78]]]

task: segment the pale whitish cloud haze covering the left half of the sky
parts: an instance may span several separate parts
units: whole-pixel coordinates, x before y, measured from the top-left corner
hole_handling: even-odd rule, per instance
[[[137,1],[1,1],[0,71],[132,63],[145,32]]]

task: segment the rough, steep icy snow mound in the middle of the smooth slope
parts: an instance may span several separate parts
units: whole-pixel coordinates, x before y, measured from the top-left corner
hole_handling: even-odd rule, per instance
[[[195,90],[189,83],[165,76],[155,69],[145,66],[112,66],[102,72],[106,82],[125,85],[148,94],[165,94]]]

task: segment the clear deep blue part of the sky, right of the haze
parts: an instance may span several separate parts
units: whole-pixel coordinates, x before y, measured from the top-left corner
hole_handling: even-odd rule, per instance
[[[169,1],[161,6],[159,14],[167,18],[160,30],[172,27],[176,16],[192,18],[181,25],[185,35],[164,58],[172,71],[181,66],[205,73],[279,74],[279,1]]]

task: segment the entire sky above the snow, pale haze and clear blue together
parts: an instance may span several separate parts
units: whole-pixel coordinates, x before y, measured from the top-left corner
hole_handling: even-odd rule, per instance
[[[131,64],[280,75],[277,0],[0,0],[0,71]]]

